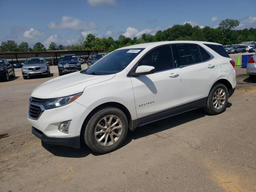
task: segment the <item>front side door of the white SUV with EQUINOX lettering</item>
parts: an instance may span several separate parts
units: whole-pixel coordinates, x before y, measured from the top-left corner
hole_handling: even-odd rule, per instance
[[[180,76],[179,68],[174,68],[170,45],[150,50],[138,62],[141,65],[155,68],[154,74],[131,77],[137,117],[148,117],[148,122],[158,118],[152,114],[180,104]]]

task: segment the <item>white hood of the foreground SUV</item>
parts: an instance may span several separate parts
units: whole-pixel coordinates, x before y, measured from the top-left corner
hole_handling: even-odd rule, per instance
[[[66,74],[49,80],[32,92],[36,98],[58,98],[83,92],[87,86],[112,79],[115,74],[110,75],[88,75],[80,72]]]

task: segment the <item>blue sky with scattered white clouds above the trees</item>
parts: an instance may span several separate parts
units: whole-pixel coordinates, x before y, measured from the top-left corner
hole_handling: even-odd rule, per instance
[[[256,28],[256,0],[0,0],[0,41],[75,44],[78,36],[133,38],[186,22],[216,28],[237,19]]]

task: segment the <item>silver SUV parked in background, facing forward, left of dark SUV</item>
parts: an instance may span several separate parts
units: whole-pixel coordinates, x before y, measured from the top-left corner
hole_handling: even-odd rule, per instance
[[[44,57],[27,58],[22,66],[22,76],[27,79],[29,76],[50,76],[50,66]]]

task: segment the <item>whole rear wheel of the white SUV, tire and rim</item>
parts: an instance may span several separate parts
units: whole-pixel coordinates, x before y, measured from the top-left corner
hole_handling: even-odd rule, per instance
[[[224,84],[215,84],[210,91],[204,110],[213,115],[226,110],[228,104],[228,89]]]

